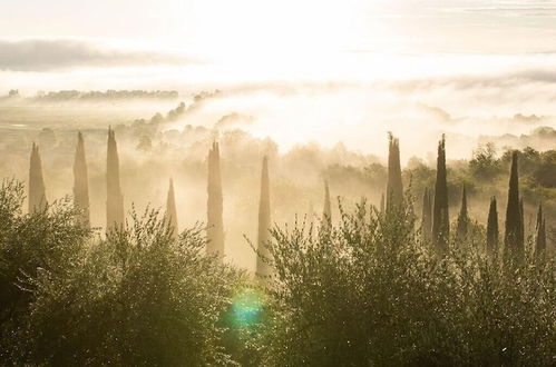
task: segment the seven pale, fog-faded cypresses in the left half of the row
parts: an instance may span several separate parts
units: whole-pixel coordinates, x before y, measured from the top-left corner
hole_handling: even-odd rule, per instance
[[[213,142],[208,151],[208,176],[207,176],[207,252],[224,256],[224,224],[223,224],[223,194],[222,175],[220,161],[218,142]],[[107,161],[106,161],[106,228],[107,230],[123,226],[125,222],[124,195],[119,179],[119,157],[115,131],[108,129]],[[85,141],[81,132],[77,135],[77,147],[74,160],[74,202],[79,209],[79,220],[90,227],[89,212],[89,188],[87,159],[85,153]],[[47,196],[42,176],[42,163],[39,147],[33,142],[29,168],[29,211],[45,210],[47,208]],[[174,236],[178,234],[176,199],[174,194],[174,181],[169,180],[166,200],[166,218],[174,228]],[[330,222],[330,192],[325,184],[325,209],[324,218]],[[262,257],[257,257],[256,272],[261,276],[270,274],[269,251],[263,244],[270,239],[271,204],[270,204],[270,179],[269,159],[263,158],[261,173],[261,197],[259,208],[259,234],[257,247]]]

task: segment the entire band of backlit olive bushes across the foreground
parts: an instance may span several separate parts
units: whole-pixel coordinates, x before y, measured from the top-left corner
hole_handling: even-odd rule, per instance
[[[439,257],[407,199],[273,228],[256,284],[206,256],[201,228],[176,238],[147,211],[99,238],[69,200],[26,215],[22,199],[3,184],[1,364],[554,364],[554,259],[487,256],[479,226]]]

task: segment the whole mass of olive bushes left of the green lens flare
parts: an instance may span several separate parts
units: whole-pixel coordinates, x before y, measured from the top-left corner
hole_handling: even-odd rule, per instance
[[[201,228],[174,239],[149,211],[94,240],[68,204],[21,215],[17,188],[0,190],[2,300],[26,302],[2,304],[3,364],[232,363],[217,321],[241,275],[204,255]]]

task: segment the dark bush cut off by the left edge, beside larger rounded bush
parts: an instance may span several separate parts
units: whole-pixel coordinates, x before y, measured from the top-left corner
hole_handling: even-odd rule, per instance
[[[64,277],[91,231],[75,220],[69,199],[48,210],[22,212],[23,185],[4,180],[0,186],[0,363],[23,353],[16,348],[17,330],[36,300],[30,281],[48,271]]]

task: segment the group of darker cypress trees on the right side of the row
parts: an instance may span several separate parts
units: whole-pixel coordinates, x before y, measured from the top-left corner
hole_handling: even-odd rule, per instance
[[[387,184],[387,210],[402,204],[403,188],[400,169],[399,140],[389,133],[388,157],[388,184]],[[381,200],[383,211],[383,197]],[[509,176],[508,202],[506,208],[506,222],[504,236],[504,252],[513,258],[523,258],[525,255],[525,228],[524,201],[519,197],[518,153],[511,155],[511,168]],[[467,189],[461,191],[461,207],[457,219],[457,238],[464,240],[470,230],[471,220],[467,208]],[[446,169],[446,138],[442,136],[438,143],[437,176],[435,190],[425,189],[422,198],[421,229],[425,241],[435,245],[438,254],[446,254],[450,239],[450,219],[448,212],[448,180]],[[539,205],[536,226],[536,254],[546,250],[546,220],[543,206]],[[494,255],[498,251],[498,211],[496,197],[490,199],[487,221],[487,252]]]

